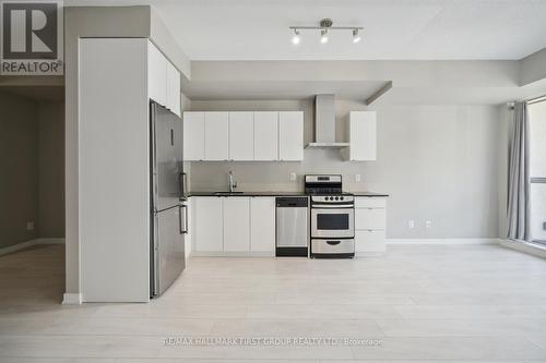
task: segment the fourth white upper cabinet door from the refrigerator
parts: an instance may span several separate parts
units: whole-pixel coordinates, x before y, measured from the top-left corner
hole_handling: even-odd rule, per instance
[[[278,112],[254,112],[254,160],[278,159]]]

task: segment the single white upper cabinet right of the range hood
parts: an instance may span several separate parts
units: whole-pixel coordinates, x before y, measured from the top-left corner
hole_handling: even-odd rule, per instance
[[[349,147],[346,158],[351,161],[369,161],[377,158],[377,116],[375,111],[349,113]]]

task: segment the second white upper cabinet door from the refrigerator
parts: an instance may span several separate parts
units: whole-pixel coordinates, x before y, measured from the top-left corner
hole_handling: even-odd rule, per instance
[[[228,133],[228,112],[205,112],[205,160],[227,160],[229,158]]]

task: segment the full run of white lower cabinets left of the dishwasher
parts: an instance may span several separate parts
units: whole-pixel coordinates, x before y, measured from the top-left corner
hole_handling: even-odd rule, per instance
[[[275,255],[275,198],[192,196],[192,253]]]

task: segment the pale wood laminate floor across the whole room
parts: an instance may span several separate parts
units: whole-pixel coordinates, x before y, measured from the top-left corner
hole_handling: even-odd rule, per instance
[[[63,270],[62,245],[0,257],[0,362],[546,362],[546,262],[497,245],[192,258],[149,304],[60,305]],[[192,337],[269,343],[185,346]]]

